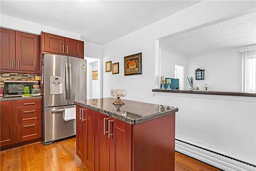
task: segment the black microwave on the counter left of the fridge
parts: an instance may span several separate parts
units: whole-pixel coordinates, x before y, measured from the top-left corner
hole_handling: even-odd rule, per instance
[[[4,81],[4,97],[23,96],[24,84],[28,84],[31,91],[31,89],[33,88],[33,85],[39,85],[39,82],[38,81],[5,80]]]

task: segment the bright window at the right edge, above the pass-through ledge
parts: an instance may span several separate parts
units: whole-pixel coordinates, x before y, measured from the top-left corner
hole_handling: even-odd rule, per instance
[[[256,52],[246,53],[245,92],[256,93]]]

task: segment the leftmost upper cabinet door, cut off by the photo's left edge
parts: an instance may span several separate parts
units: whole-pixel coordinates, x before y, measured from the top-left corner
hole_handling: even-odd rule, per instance
[[[15,31],[0,28],[0,68],[15,69]]]

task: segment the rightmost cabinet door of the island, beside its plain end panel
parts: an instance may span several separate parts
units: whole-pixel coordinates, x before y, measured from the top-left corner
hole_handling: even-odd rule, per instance
[[[110,170],[132,170],[132,125],[110,118]]]

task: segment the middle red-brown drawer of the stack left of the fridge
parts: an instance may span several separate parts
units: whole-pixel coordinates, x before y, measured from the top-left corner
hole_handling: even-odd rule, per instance
[[[16,124],[19,125],[25,123],[39,122],[41,121],[41,113],[41,107],[17,109]]]

